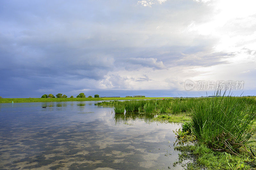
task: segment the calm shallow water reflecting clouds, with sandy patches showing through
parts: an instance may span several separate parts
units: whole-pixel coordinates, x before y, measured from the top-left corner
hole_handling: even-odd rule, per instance
[[[0,104],[0,169],[182,169],[179,125],[94,103]]]

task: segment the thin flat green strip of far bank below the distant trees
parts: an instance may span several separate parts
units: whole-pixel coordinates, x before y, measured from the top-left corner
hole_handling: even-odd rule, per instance
[[[145,100],[162,99],[163,97],[83,97],[83,98],[0,98],[0,103],[19,102],[68,102],[68,101],[100,101],[100,100]],[[172,97],[164,97],[170,99]]]

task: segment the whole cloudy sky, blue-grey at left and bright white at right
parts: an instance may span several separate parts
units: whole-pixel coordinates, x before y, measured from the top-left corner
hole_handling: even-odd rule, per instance
[[[232,84],[233,95],[256,95],[255,6],[0,1],[0,96],[199,97],[214,92],[209,82]]]

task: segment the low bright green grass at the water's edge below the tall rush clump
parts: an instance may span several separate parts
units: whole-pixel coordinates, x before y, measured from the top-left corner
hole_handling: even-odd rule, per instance
[[[174,149],[181,151],[179,161],[175,162],[174,165],[180,163],[187,166],[189,170],[203,169],[203,167],[207,167],[209,170],[249,170],[256,167],[256,159],[247,154],[236,156],[227,152],[213,151],[204,144],[188,144]],[[184,160],[187,159],[194,161],[184,164]]]

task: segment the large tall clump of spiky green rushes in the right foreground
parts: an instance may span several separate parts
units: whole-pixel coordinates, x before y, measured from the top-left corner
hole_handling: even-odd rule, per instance
[[[225,97],[217,91],[213,98],[193,101],[192,132],[199,142],[216,151],[238,154],[251,151],[254,101],[245,97]],[[218,97],[221,96],[221,97]],[[249,148],[249,150],[248,150]],[[252,152],[253,153],[253,152]],[[254,153],[253,153],[254,154]]]

